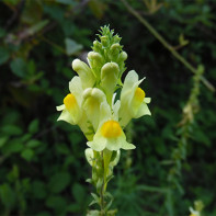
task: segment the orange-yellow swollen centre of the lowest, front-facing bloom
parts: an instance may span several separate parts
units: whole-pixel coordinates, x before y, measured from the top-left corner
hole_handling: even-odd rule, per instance
[[[106,138],[116,138],[116,137],[121,136],[122,128],[121,128],[118,122],[109,121],[103,124],[101,132],[102,132],[102,135]]]

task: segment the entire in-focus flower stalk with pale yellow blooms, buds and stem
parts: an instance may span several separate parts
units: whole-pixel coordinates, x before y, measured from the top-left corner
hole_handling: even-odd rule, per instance
[[[139,87],[144,79],[132,70],[122,82],[126,70],[127,54],[120,44],[121,37],[109,26],[101,27],[99,39],[93,42],[92,52],[88,54],[88,64],[75,59],[72,69],[78,73],[69,82],[70,93],[64,104],[58,121],[78,125],[87,137],[86,158],[92,167],[92,177],[87,181],[95,187],[91,193],[99,209],[88,215],[115,215],[111,211],[112,195],[107,183],[113,178],[121,150],[136,147],[126,140],[124,128],[132,118],[150,115],[145,91]],[[117,92],[120,92],[120,96]]]

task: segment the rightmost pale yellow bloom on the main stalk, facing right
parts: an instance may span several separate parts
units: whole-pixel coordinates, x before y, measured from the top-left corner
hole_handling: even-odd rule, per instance
[[[147,103],[150,98],[139,88],[144,79],[138,80],[138,75],[132,70],[125,78],[121,92],[120,123],[125,127],[132,118],[138,118],[143,115],[151,115]]]

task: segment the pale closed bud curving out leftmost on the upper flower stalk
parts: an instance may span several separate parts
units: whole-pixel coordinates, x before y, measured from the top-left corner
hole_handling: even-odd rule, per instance
[[[93,87],[95,78],[86,62],[77,58],[72,61],[72,69],[79,75],[83,89]]]

